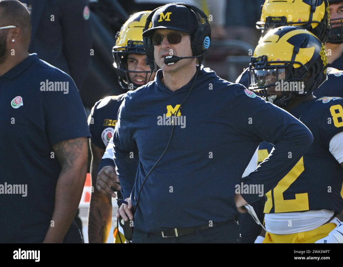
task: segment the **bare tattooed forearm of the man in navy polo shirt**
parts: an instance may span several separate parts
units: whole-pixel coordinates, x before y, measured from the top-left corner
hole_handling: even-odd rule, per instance
[[[87,138],[80,137],[52,146],[61,165],[56,185],[55,208],[43,243],[62,243],[78,209],[87,174]]]

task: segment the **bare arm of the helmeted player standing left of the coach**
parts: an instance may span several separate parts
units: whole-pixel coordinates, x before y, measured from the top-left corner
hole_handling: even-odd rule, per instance
[[[88,214],[88,242],[106,243],[112,223],[112,199],[96,189],[98,166],[105,150],[98,148],[91,140],[90,146],[92,151],[91,181],[94,192],[91,194]],[[114,168],[113,172],[115,173]]]

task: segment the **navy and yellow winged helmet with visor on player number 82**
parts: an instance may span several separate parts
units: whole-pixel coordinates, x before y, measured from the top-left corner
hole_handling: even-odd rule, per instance
[[[328,66],[325,46],[314,34],[301,27],[279,27],[269,31],[255,49],[249,65],[249,89],[285,107],[292,95],[306,97],[326,81]],[[288,84],[294,85],[294,90]],[[277,86],[280,95],[272,94]]]

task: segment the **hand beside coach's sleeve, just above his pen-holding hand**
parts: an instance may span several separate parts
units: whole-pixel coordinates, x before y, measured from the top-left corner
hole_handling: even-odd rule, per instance
[[[115,169],[113,166],[105,166],[102,168],[99,173],[98,177],[96,178],[96,189],[105,195],[110,197],[116,197],[117,195],[111,189],[111,186],[114,189],[120,190],[121,187],[119,184],[119,178],[115,173]]]

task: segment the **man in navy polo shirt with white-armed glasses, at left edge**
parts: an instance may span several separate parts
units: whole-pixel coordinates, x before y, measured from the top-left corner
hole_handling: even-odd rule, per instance
[[[0,1],[0,242],[82,242],[87,119],[66,73],[28,54],[31,22]]]

